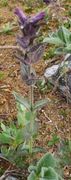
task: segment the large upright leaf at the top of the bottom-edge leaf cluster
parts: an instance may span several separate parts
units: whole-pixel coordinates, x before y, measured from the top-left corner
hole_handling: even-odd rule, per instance
[[[46,153],[37,163],[37,172],[40,173],[42,167],[55,167],[56,159],[51,153]]]

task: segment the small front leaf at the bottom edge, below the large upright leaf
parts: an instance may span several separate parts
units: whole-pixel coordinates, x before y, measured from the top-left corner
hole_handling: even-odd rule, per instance
[[[58,174],[55,172],[55,170],[52,167],[49,168],[42,167],[41,177],[43,180],[44,179],[46,180],[46,178],[47,180],[59,180]]]

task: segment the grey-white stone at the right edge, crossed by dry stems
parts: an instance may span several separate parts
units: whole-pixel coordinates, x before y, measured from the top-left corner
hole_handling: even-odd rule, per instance
[[[57,86],[64,97],[71,103],[71,54],[65,56],[60,64],[53,65],[45,70],[44,77]]]

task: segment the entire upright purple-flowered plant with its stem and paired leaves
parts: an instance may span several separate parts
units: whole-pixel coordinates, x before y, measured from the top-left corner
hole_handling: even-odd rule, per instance
[[[41,60],[45,50],[45,43],[37,41],[39,38],[39,30],[45,20],[45,12],[42,11],[29,17],[25,15],[21,9],[16,8],[15,14],[18,16],[18,23],[21,31],[20,35],[18,35],[16,39],[19,46],[16,58],[20,61],[22,79],[29,86],[30,95],[28,101],[16,92],[14,92],[14,96],[16,101],[23,107],[26,107],[27,110],[25,110],[25,125],[28,124],[30,129],[29,151],[32,152],[33,136],[37,132],[36,111],[48,102],[47,99],[34,102],[34,84],[38,80],[38,77],[32,67],[33,64],[36,64],[39,60]]]

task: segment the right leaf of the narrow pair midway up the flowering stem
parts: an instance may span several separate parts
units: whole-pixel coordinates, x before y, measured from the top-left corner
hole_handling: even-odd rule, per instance
[[[37,110],[37,109],[40,109],[42,108],[43,106],[45,106],[47,103],[49,103],[49,99],[42,99],[42,100],[39,100],[35,103],[33,109],[34,110]]]

